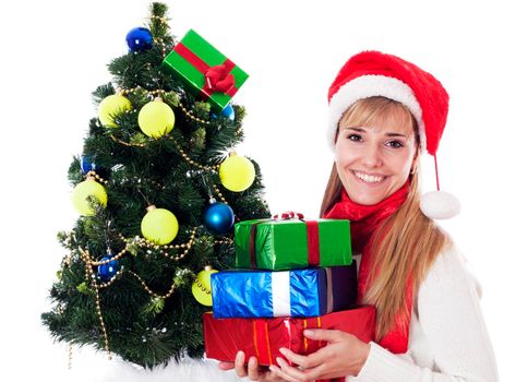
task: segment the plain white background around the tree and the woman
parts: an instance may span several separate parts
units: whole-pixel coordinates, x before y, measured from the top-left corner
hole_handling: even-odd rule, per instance
[[[172,33],[196,29],[250,73],[239,152],[262,166],[272,212],[315,217],[332,165],[326,91],[355,52],[379,49],[436,75],[451,94],[439,152],[441,186],[463,213],[443,224],[483,285],[482,309],[503,381],[526,377],[526,118],[528,59],[520,1],[170,1]],[[250,5],[251,4],[251,5]],[[25,1],[0,5],[0,377],[86,380],[104,355],[53,345],[40,326],[70,229],[67,170],[81,153],[91,92],[147,16],[145,1]],[[432,190],[433,164],[423,157]],[[111,362],[110,362],[111,363]],[[15,377],[16,375],[16,377]],[[75,375],[75,377],[74,377]]]

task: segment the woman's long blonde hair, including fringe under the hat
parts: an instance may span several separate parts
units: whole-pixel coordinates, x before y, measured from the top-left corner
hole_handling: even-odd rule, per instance
[[[419,147],[418,127],[412,115],[404,105],[393,99],[360,99],[348,108],[341,120],[347,126],[362,126],[379,118],[394,118],[395,112],[401,110],[408,115]],[[406,293],[409,277],[412,289],[418,290],[436,256],[452,243],[447,235],[420,211],[418,182],[418,172],[410,175],[407,200],[383,222],[370,241],[372,270],[376,272],[369,275],[365,296],[359,302],[376,307],[376,341],[393,327],[397,314],[403,313],[406,321],[396,324],[408,322],[410,318],[406,308]],[[343,184],[334,163],[321,205],[321,216],[339,200],[341,190]]]

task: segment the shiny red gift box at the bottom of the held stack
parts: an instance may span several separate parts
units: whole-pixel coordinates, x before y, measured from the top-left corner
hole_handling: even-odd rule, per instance
[[[245,359],[256,357],[260,365],[277,365],[285,347],[297,354],[309,355],[325,346],[302,335],[304,329],[334,329],[356,335],[368,343],[374,338],[375,308],[357,307],[310,319],[215,319],[204,313],[205,355],[220,361],[233,362],[238,350]]]

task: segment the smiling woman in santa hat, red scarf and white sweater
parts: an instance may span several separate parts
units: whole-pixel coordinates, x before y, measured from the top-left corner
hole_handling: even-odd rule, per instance
[[[309,356],[281,349],[268,370],[240,353],[233,368],[255,381],[496,381],[478,288],[451,238],[432,220],[456,201],[420,202],[419,154],[435,155],[448,96],[431,74],[395,56],[356,55],[329,88],[335,163],[321,214],[351,222],[359,300],[376,307],[375,342],[310,330],[327,345]],[[286,360],[299,365],[290,367]]]

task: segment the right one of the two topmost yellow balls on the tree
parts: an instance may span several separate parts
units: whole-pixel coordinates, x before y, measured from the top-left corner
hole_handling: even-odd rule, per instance
[[[141,108],[137,123],[146,135],[159,138],[169,133],[175,127],[175,112],[169,105],[156,99]]]

